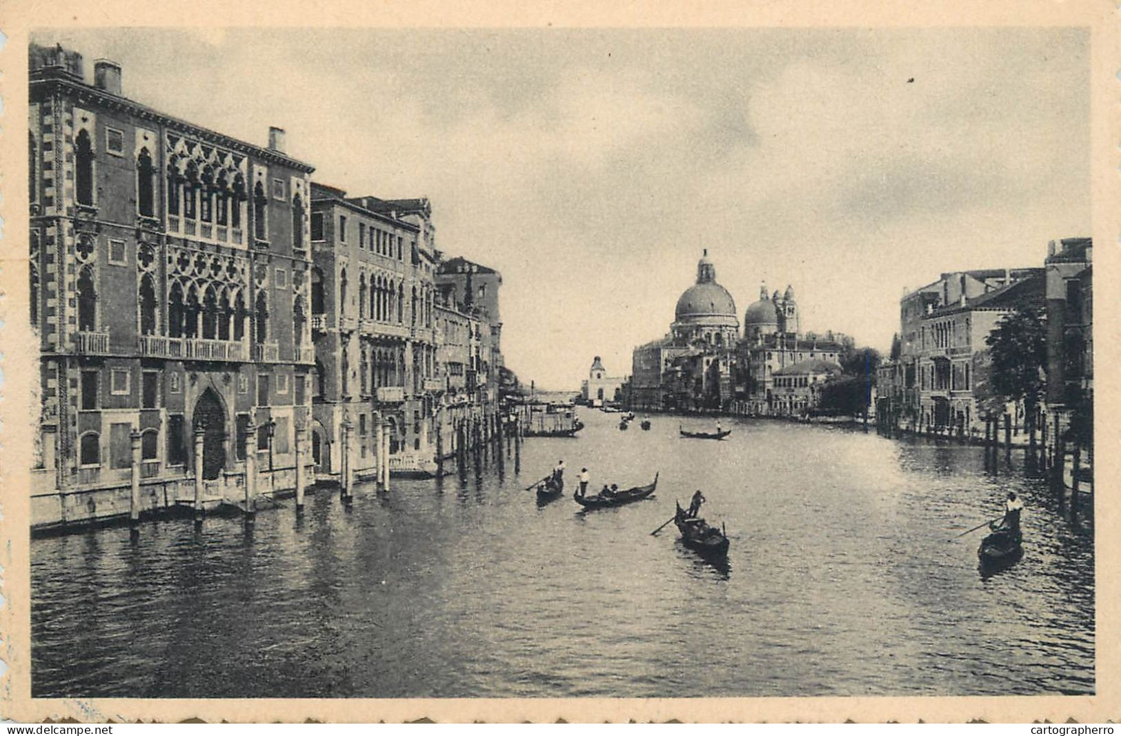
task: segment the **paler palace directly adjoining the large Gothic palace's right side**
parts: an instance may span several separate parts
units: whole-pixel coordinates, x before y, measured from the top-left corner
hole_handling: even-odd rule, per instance
[[[382,460],[390,472],[413,469],[435,451],[432,417],[444,382],[437,370],[430,208],[426,199],[395,202],[389,207],[377,197],[348,197],[313,184],[312,326],[319,383],[312,441],[325,476],[339,477],[344,426],[359,479],[376,477]]]

